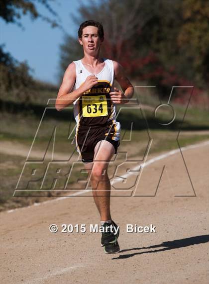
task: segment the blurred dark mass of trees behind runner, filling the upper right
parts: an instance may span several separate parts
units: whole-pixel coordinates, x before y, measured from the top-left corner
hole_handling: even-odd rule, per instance
[[[201,4],[194,5],[194,2]],[[88,19],[100,21],[104,26],[103,56],[119,61],[135,81],[156,85],[161,97],[166,97],[173,85],[195,85],[196,93],[200,94],[207,85],[204,70],[209,68],[207,5],[204,0],[92,0],[90,5],[81,3],[74,20],[78,26]],[[203,35],[205,32],[204,43],[197,36],[194,46],[186,40],[190,38],[185,15],[188,10],[194,10],[190,12],[190,21],[196,24],[195,31],[190,26],[190,33]],[[198,18],[204,10],[201,19],[205,23],[199,28]],[[204,46],[204,52],[200,45]],[[81,50],[76,38],[65,38],[61,46],[61,73],[72,60],[80,57]],[[201,69],[202,65],[205,67]],[[184,101],[181,89],[177,95]]]

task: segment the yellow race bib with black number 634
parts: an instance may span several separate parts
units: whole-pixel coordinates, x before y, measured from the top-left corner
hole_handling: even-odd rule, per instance
[[[83,96],[82,106],[84,117],[106,116],[108,114],[105,95]]]

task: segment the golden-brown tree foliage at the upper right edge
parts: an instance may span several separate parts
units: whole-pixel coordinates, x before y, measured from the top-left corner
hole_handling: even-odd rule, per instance
[[[178,44],[193,59],[197,77],[209,87],[209,1],[183,1]]]

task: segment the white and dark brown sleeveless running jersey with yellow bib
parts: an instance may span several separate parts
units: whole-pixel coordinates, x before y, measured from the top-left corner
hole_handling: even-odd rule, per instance
[[[74,89],[78,89],[89,75],[92,75],[81,60],[73,61],[76,65],[76,82]],[[114,124],[119,130],[120,124],[116,122],[115,104],[110,100],[109,93],[114,91],[114,67],[112,60],[104,59],[104,68],[95,75],[97,85],[86,91],[74,101],[74,117],[79,127],[100,127]],[[116,138],[117,140],[117,138]]]

